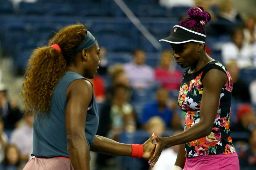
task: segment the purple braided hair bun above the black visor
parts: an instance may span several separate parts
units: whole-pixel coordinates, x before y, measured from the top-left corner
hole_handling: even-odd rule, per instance
[[[200,22],[202,26],[206,25],[206,23],[211,20],[211,15],[206,12],[202,7],[190,8],[187,11],[187,15],[189,15],[190,18]]]

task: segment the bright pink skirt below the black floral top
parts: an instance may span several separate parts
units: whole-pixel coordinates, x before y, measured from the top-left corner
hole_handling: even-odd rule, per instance
[[[239,170],[237,153],[187,158],[184,170]]]

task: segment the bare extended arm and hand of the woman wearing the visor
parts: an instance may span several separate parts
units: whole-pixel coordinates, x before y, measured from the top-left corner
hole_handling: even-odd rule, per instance
[[[218,110],[219,97],[226,81],[227,75],[221,70],[211,69],[206,73],[202,79],[203,94],[200,105],[200,121],[181,134],[166,138],[157,136],[155,138],[157,141],[155,153],[149,160],[152,166],[157,162],[164,148],[191,142],[211,133]]]

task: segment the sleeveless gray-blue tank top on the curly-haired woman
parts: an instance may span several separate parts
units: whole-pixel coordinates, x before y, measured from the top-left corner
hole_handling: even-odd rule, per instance
[[[69,158],[67,151],[67,136],[65,127],[66,90],[71,82],[85,79],[77,73],[67,71],[59,80],[51,97],[51,108],[46,114],[37,113],[33,124],[32,156],[53,158],[64,156]],[[93,94],[86,116],[86,140],[89,146],[93,144],[99,125],[98,110]]]

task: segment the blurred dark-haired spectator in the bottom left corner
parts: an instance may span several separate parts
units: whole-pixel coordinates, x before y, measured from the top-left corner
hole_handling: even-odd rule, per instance
[[[5,160],[2,163],[3,170],[21,170],[19,162],[20,153],[15,145],[9,145],[6,147]]]

